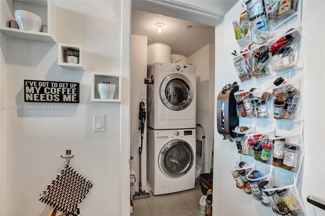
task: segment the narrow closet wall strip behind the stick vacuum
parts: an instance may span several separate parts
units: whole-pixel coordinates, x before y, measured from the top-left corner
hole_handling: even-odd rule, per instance
[[[130,99],[130,116],[131,116],[131,143],[130,153],[134,157],[131,160],[131,166],[136,171],[136,183],[131,187],[132,193],[139,191],[139,147],[141,146],[141,131],[139,127],[139,103],[145,102],[147,112],[147,85],[144,84],[144,78],[147,77],[147,37],[140,35],[131,35],[131,99]],[[147,121],[146,121],[147,122]],[[147,127],[145,125],[142,155],[141,155],[141,171],[142,171],[142,190],[147,190]],[[146,191],[147,192],[147,191]]]

